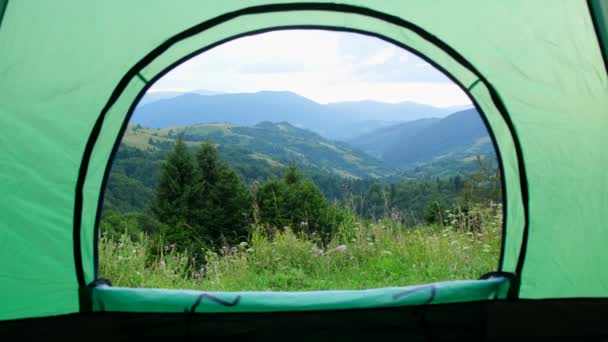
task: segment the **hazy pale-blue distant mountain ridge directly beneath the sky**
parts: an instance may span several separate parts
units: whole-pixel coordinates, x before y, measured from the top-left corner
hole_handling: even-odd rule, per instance
[[[211,122],[252,126],[263,121],[286,121],[296,127],[313,130],[325,138],[346,140],[397,122],[445,117],[453,111],[452,108],[413,102],[357,101],[324,105],[291,92],[186,93],[142,101],[131,122],[145,127],[166,128]]]

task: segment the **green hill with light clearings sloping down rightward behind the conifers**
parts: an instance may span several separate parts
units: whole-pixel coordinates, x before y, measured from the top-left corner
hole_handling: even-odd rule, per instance
[[[330,199],[343,197],[344,182],[380,179],[393,172],[345,143],[326,140],[286,122],[262,122],[252,127],[222,123],[167,129],[130,125],[112,164],[105,207],[119,211],[146,208],[162,160],[178,136],[191,149],[200,142],[213,142],[222,160],[247,184],[279,177],[295,162]]]

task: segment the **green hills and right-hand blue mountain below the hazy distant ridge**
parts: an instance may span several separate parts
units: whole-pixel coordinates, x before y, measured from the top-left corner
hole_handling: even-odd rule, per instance
[[[475,110],[393,124],[348,142],[327,139],[286,121],[165,128],[132,123],[114,158],[104,206],[127,211],[146,208],[160,165],[179,136],[192,149],[213,142],[222,160],[248,184],[278,177],[293,162],[334,199],[342,194],[345,179],[366,184],[464,175],[475,171],[477,155],[496,164]]]

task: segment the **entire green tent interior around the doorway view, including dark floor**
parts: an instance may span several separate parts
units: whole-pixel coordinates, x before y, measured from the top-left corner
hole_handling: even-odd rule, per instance
[[[97,280],[102,189],[146,89],[293,28],[379,37],[471,96],[504,175],[496,273],[301,293]],[[607,0],[0,0],[0,336],[607,336],[607,55]]]

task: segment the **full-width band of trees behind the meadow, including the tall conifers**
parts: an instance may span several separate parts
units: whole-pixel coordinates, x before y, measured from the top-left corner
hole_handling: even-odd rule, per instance
[[[406,226],[443,223],[446,210],[466,215],[479,203],[498,203],[502,198],[500,174],[481,158],[473,174],[428,181],[306,175],[291,164],[281,174],[247,182],[220,158],[211,142],[192,149],[177,139],[160,162],[153,152],[126,149],[122,153],[128,158],[114,165],[121,172],[113,172],[116,178],[110,182],[118,183],[110,196],[146,204],[126,210],[106,206],[102,231],[111,235],[127,231],[134,237],[145,231],[163,236],[165,245],[190,251],[248,241],[253,224],[289,227],[327,242],[352,215],[389,218]]]

